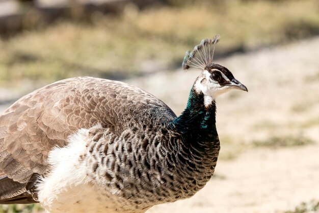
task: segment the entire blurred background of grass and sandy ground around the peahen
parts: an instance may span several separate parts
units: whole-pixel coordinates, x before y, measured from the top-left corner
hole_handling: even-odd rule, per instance
[[[0,0],[0,112],[48,83],[93,76],[180,114],[199,74],[181,70],[184,53],[215,34],[215,62],[249,92],[217,100],[214,177],[148,212],[319,212],[317,0]]]

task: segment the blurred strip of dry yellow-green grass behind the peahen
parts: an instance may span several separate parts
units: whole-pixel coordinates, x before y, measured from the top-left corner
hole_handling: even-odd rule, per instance
[[[218,54],[245,51],[319,33],[319,5],[304,1],[195,1],[92,23],[60,21],[0,40],[0,84],[90,75],[123,78],[180,66],[184,52],[219,33]],[[243,15],[245,14],[245,15]]]

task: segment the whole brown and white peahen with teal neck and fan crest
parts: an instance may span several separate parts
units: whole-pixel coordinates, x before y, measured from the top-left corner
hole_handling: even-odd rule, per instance
[[[215,99],[235,88],[212,63],[214,39],[187,53],[201,70],[180,116],[148,92],[98,78],[65,79],[27,94],[0,116],[0,204],[48,212],[145,212],[189,198],[214,173]]]

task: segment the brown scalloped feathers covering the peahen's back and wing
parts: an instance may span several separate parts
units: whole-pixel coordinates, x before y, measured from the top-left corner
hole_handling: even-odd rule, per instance
[[[176,116],[151,94],[122,82],[83,77],[42,87],[0,116],[0,171],[25,183],[47,171],[49,151],[65,146],[78,129],[100,123],[120,134],[143,117],[154,122],[154,113]]]

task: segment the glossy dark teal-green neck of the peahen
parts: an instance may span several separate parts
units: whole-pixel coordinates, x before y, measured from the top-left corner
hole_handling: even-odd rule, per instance
[[[204,104],[204,94],[193,86],[185,110],[171,122],[176,132],[189,139],[211,143],[217,137],[216,103]],[[190,138],[191,137],[191,138]]]

